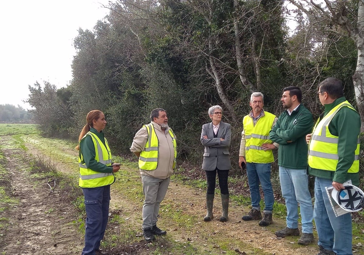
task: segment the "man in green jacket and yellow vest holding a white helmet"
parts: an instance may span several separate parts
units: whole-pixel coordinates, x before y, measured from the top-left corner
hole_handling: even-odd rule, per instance
[[[325,187],[345,189],[349,180],[359,186],[359,135],[361,120],[343,96],[342,82],[327,78],[318,85],[318,98],[325,107],[309,142],[308,173],[316,176],[314,219],[318,234],[318,255],[352,254],[351,214],[339,217],[331,207]]]

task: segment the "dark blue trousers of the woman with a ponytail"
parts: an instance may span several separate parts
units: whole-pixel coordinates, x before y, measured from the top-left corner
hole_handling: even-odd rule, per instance
[[[110,204],[110,185],[82,188],[86,207],[85,247],[82,255],[95,255],[104,238]]]

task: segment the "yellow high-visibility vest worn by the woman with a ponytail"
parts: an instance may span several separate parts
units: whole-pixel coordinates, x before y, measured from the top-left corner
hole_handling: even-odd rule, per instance
[[[94,142],[96,153],[95,160],[104,165],[111,166],[111,151],[106,138],[104,145],[100,138],[91,131],[87,132],[87,134],[85,134],[83,138],[85,138],[86,136],[91,136],[92,141]],[[78,163],[80,167],[78,185],[81,188],[96,188],[114,183],[114,173],[100,173],[90,168],[87,168],[86,163],[83,160],[82,152],[79,153],[79,155],[81,155],[81,157],[78,157]]]

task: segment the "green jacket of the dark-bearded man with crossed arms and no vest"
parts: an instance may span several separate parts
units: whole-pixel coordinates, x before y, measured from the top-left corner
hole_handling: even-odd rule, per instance
[[[313,118],[302,104],[292,111],[284,111],[269,132],[269,139],[279,144],[278,165],[293,169],[307,168],[306,134],[313,127]]]

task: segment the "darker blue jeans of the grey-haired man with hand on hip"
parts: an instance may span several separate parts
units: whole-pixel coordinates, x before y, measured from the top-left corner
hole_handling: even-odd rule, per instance
[[[248,183],[250,189],[250,198],[252,199],[252,207],[260,211],[260,181],[264,191],[264,212],[272,213],[274,195],[272,183],[270,182],[270,163],[246,163],[246,173],[248,174]]]

